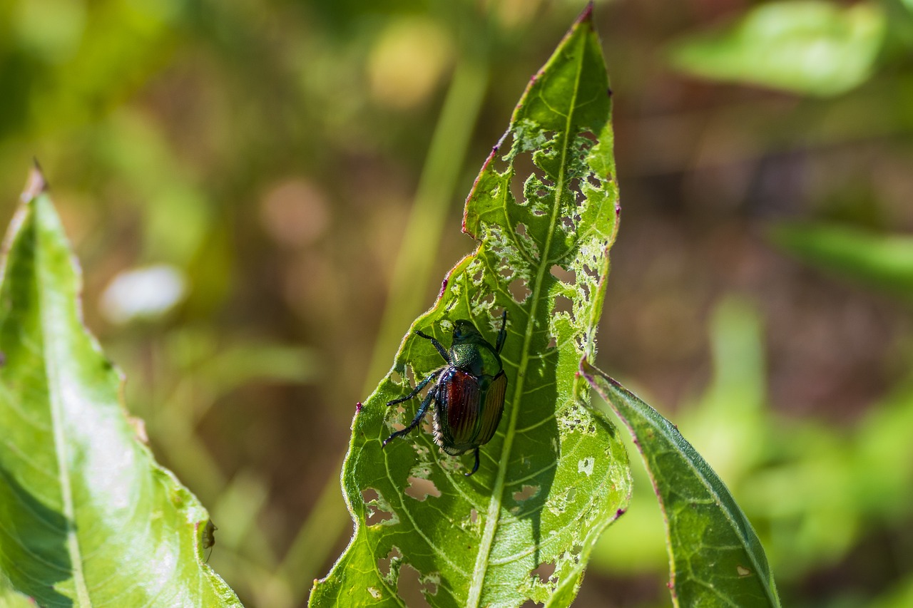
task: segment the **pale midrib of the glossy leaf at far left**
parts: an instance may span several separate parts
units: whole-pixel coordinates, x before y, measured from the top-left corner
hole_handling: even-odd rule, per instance
[[[82,554],[79,550],[79,537],[76,533],[76,527],[73,522],[76,520],[76,506],[73,502],[73,490],[70,487],[70,479],[67,466],[67,437],[64,433],[63,425],[63,387],[60,382],[60,373],[58,372],[58,357],[48,356],[48,352],[53,355],[53,341],[48,341],[48,336],[55,335],[55,323],[49,313],[51,307],[46,304],[48,291],[45,286],[50,281],[53,283],[53,277],[45,276],[47,264],[43,259],[45,253],[41,243],[41,217],[39,214],[40,198],[32,201],[32,251],[34,251],[34,272],[36,279],[36,291],[38,294],[38,317],[41,325],[41,344],[42,356],[45,360],[45,374],[47,377],[47,396],[50,406],[51,425],[54,432],[54,451],[58,461],[58,483],[60,484],[60,501],[62,503],[64,525],[67,527],[67,552],[69,554],[70,569],[76,589],[76,599],[79,605],[90,606],[89,588],[86,584],[85,573],[82,571]],[[53,274],[53,273],[52,273]]]

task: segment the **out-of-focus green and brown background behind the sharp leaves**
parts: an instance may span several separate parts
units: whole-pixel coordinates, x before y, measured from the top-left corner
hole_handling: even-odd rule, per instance
[[[303,606],[345,546],[355,403],[582,6],[0,3],[0,221],[37,158],[89,328],[247,605]],[[623,204],[600,366],[727,482],[784,605],[913,605],[913,0],[595,10]],[[575,605],[669,605],[633,465]]]

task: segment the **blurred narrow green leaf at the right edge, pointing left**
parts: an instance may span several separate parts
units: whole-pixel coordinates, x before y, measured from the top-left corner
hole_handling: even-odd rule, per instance
[[[807,264],[913,298],[913,236],[786,223],[773,226],[770,235],[774,244]]]

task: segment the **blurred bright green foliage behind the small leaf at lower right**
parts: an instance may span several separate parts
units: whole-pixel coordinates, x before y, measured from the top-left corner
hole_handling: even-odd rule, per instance
[[[875,404],[854,429],[838,430],[771,411],[762,322],[749,302],[729,298],[719,303],[710,343],[714,372],[708,388],[694,403],[683,405],[675,419],[740,498],[781,586],[799,585],[824,565],[845,560],[866,535],[908,525],[913,377]],[[651,490],[643,472],[635,470],[630,517],[603,537],[594,562],[622,571],[659,570],[665,564],[661,515]],[[895,540],[902,556],[913,537]],[[864,565],[886,568],[873,572],[886,581],[897,576],[890,559],[856,563]],[[898,590],[909,582],[897,584],[879,599],[883,605],[907,605],[908,594]],[[873,601],[866,590],[850,586],[841,588],[840,596],[827,605]]]

